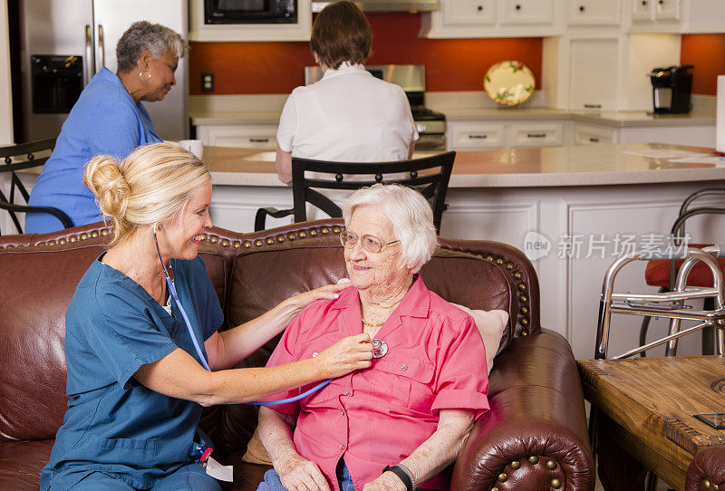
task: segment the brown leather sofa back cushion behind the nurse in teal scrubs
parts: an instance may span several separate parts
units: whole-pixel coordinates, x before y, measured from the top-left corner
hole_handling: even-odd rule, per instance
[[[0,251],[0,442],[53,438],[63,423],[65,311],[82,275],[104,248]],[[201,256],[224,299],[227,259],[214,252]]]

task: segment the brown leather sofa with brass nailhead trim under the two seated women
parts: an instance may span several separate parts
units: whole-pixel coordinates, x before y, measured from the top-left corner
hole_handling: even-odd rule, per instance
[[[286,297],[344,272],[339,220],[239,235],[214,228],[200,247],[226,314],[237,325]],[[64,313],[108,239],[102,224],[46,235],[0,237],[0,489],[38,488],[66,405]],[[565,339],[539,325],[536,273],[517,249],[440,239],[421,271],[427,286],[473,309],[505,309],[512,322],[490,373],[491,410],[451,466],[457,490],[594,489],[584,400]],[[245,361],[262,365],[275,341]],[[483,353],[481,353],[483,356]],[[235,465],[225,489],[256,489],[268,467],[241,464],[256,409],[205,409],[215,454]]]

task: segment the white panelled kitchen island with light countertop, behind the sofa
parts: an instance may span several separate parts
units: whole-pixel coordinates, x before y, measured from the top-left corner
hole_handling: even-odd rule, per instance
[[[705,157],[680,162],[668,155]],[[525,250],[541,281],[543,325],[565,335],[577,358],[591,358],[604,271],[625,247],[665,241],[692,191],[725,188],[725,160],[710,161],[710,155],[711,149],[661,144],[459,152],[441,236],[498,240]],[[250,231],[258,207],[292,206],[291,188],[276,177],[274,152],[205,147],[205,159],[218,226]],[[699,218],[688,224],[688,233],[722,242],[718,230],[725,223]],[[268,218],[267,226],[288,222]],[[616,286],[654,291],[644,285],[643,271],[644,264],[630,266]],[[614,319],[613,352],[633,345],[639,322]],[[662,322],[652,324],[652,336],[665,330]],[[697,338],[689,338],[680,353],[699,352]]]

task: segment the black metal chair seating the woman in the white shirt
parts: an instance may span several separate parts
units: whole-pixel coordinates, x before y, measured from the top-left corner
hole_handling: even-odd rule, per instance
[[[446,208],[446,193],[455,158],[454,151],[422,159],[383,163],[328,162],[293,157],[293,208],[288,210],[259,208],[256,212],[255,230],[265,229],[267,215],[275,218],[294,215],[295,222],[306,221],[306,203],[321,209],[330,217],[342,217],[343,210],[317,189],[355,190],[383,183],[417,188],[430,201],[430,206],[433,208],[433,223],[440,232],[440,221]],[[307,177],[305,172],[316,172],[318,176]],[[408,177],[401,178],[402,174],[407,174]],[[351,176],[353,178],[350,178]]]

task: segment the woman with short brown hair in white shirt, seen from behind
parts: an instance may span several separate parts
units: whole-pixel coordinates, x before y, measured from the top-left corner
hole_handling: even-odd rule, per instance
[[[357,5],[345,0],[317,15],[310,40],[321,81],[297,87],[277,130],[276,169],[292,183],[292,157],[342,162],[410,159],[418,131],[401,87],[376,79],[362,63],[372,30]]]

